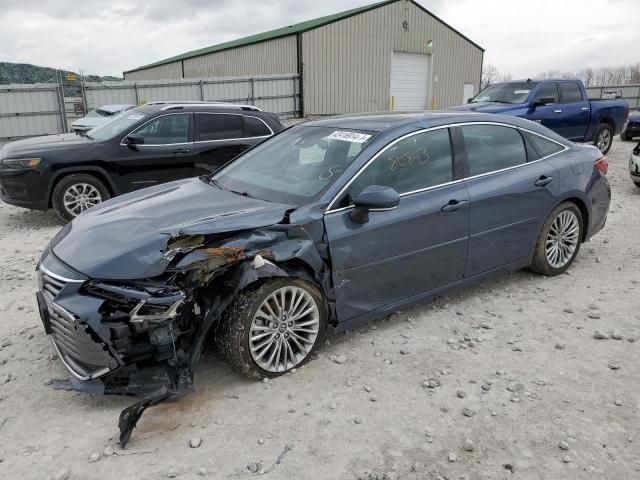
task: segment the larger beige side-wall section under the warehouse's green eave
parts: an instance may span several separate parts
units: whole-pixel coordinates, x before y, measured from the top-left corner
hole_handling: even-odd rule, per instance
[[[185,78],[286,75],[297,71],[295,35],[184,61]]]

